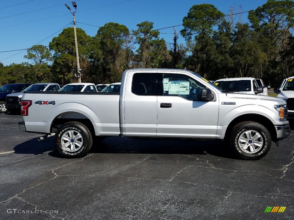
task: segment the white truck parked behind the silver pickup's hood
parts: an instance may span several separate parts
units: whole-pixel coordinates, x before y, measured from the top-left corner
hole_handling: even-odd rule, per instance
[[[228,92],[268,95],[268,89],[260,88],[252,77],[218,79],[214,84]]]

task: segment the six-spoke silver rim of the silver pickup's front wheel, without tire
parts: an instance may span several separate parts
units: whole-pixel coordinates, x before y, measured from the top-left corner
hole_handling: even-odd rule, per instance
[[[253,154],[263,146],[263,138],[257,131],[244,131],[238,138],[238,145],[245,153]]]

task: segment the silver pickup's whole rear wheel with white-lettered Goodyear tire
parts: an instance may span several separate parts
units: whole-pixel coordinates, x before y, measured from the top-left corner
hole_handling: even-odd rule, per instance
[[[68,122],[60,126],[54,136],[56,150],[66,158],[85,156],[93,143],[89,129],[80,122]]]

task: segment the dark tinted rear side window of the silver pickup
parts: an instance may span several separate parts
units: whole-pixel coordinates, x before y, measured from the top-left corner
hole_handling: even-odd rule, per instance
[[[152,74],[150,73],[135,73],[132,81],[132,93],[139,96],[151,95],[152,89]]]

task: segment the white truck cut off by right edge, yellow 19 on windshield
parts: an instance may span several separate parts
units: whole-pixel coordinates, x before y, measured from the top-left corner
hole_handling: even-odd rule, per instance
[[[294,76],[284,79],[281,87],[274,89],[277,98],[284,99],[288,108],[288,119],[294,119]]]

